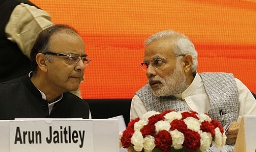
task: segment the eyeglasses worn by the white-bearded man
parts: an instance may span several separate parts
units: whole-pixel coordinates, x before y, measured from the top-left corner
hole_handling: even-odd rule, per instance
[[[178,56],[185,56],[185,55],[177,55],[177,56],[172,56],[172,57],[178,57]],[[140,67],[142,68],[143,71],[146,71],[148,66],[150,66],[150,64],[157,69],[161,69],[161,67],[166,63],[165,60],[172,58],[172,57],[168,57],[168,58],[156,58],[151,60],[151,62],[147,62],[146,60],[144,60],[141,64]]]

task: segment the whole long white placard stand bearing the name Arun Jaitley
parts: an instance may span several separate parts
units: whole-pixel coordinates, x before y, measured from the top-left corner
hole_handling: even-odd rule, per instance
[[[0,142],[6,144],[0,144],[1,152],[119,151],[117,119],[25,119],[0,126]]]

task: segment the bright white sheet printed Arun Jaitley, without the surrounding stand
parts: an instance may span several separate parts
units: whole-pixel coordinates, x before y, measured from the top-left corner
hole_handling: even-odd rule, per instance
[[[92,121],[11,121],[10,151],[93,151],[92,131]]]

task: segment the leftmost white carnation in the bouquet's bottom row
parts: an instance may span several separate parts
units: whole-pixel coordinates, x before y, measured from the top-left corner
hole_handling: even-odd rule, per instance
[[[136,151],[141,151],[143,149],[143,136],[139,131],[135,131],[132,138],[131,143],[134,145],[133,148]]]

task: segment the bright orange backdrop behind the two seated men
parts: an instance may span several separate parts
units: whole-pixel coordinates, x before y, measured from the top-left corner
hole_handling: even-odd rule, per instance
[[[84,99],[132,98],[147,82],[139,66],[144,40],[167,29],[194,42],[198,72],[231,72],[256,92],[255,0],[31,1],[84,39],[92,60],[80,86]]]

